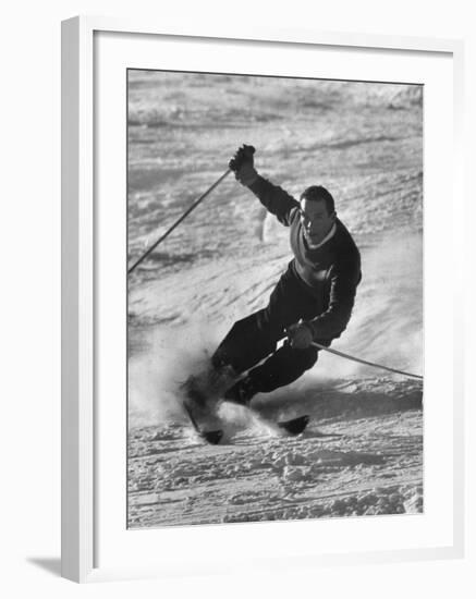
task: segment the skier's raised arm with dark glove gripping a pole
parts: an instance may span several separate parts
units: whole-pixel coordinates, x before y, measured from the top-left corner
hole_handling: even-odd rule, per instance
[[[258,174],[254,166],[254,152],[253,146],[242,146],[230,160],[229,167],[235,173],[236,181],[248,187],[269,212],[289,227],[300,204],[282,187]]]

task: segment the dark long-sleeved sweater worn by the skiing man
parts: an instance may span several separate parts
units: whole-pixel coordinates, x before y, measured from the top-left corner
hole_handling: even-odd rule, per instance
[[[269,212],[290,227],[294,259],[290,268],[318,303],[319,316],[308,321],[315,339],[330,340],[345,330],[361,281],[361,254],[344,224],[337,219],[335,232],[312,249],[304,239],[300,203],[263,176],[249,185]]]

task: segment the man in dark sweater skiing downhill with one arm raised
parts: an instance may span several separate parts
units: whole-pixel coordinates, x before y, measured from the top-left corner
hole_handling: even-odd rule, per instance
[[[242,146],[229,167],[290,228],[294,258],[267,307],[235,322],[211,357],[211,380],[220,381],[218,387],[234,381],[223,396],[243,405],[256,393],[290,384],[314,366],[318,349],[313,342],[329,346],[345,330],[361,281],[359,252],[337,218],[331,194],[312,186],[297,201],[257,173],[254,151]]]

